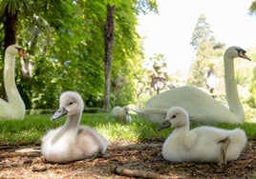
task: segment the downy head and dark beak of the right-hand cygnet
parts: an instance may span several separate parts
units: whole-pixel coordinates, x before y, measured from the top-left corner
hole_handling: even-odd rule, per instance
[[[166,129],[169,127],[180,128],[188,124],[188,114],[186,110],[181,107],[173,107],[167,111],[166,119],[160,124],[160,129]]]

